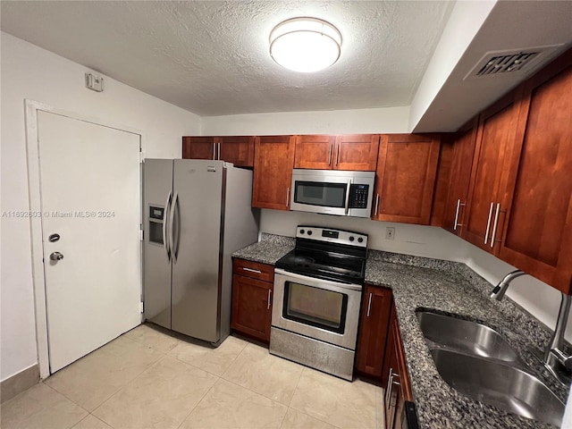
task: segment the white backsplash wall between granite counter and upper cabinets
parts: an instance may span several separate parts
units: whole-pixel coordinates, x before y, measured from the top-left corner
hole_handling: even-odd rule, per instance
[[[364,232],[369,235],[369,248],[376,250],[464,262],[492,285],[516,269],[442,228],[304,212],[261,211],[261,232],[293,237],[296,227],[302,224]],[[385,228],[390,226],[395,228],[394,240],[385,239]],[[560,305],[558,290],[533,277],[522,276],[512,282],[507,295],[554,329]],[[572,341],[572,319],[568,321],[566,337]]]

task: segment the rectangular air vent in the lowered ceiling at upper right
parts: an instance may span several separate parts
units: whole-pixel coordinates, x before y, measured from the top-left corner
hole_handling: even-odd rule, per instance
[[[510,51],[492,51],[483,55],[467,78],[484,78],[502,74],[527,74],[534,66],[545,63],[561,45],[538,46]]]

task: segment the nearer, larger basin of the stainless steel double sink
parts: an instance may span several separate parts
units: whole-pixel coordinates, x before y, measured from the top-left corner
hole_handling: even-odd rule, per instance
[[[498,361],[432,349],[439,374],[456,391],[511,413],[559,426],[564,404],[531,374]]]

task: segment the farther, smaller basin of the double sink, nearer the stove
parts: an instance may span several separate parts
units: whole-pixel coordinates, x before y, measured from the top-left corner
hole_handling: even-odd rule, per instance
[[[517,354],[501,334],[484,324],[426,311],[417,312],[417,319],[425,338],[447,349],[507,362],[518,361]]]

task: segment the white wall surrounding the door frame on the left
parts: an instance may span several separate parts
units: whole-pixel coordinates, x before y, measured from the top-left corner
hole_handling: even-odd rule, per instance
[[[104,123],[141,130],[147,157],[181,157],[181,136],[200,133],[200,118],[105,77],[105,91],[84,87],[89,71],[1,33],[1,210],[28,210],[24,98]],[[86,160],[88,161],[88,160]],[[0,379],[38,362],[30,231],[27,220],[2,217]]]

